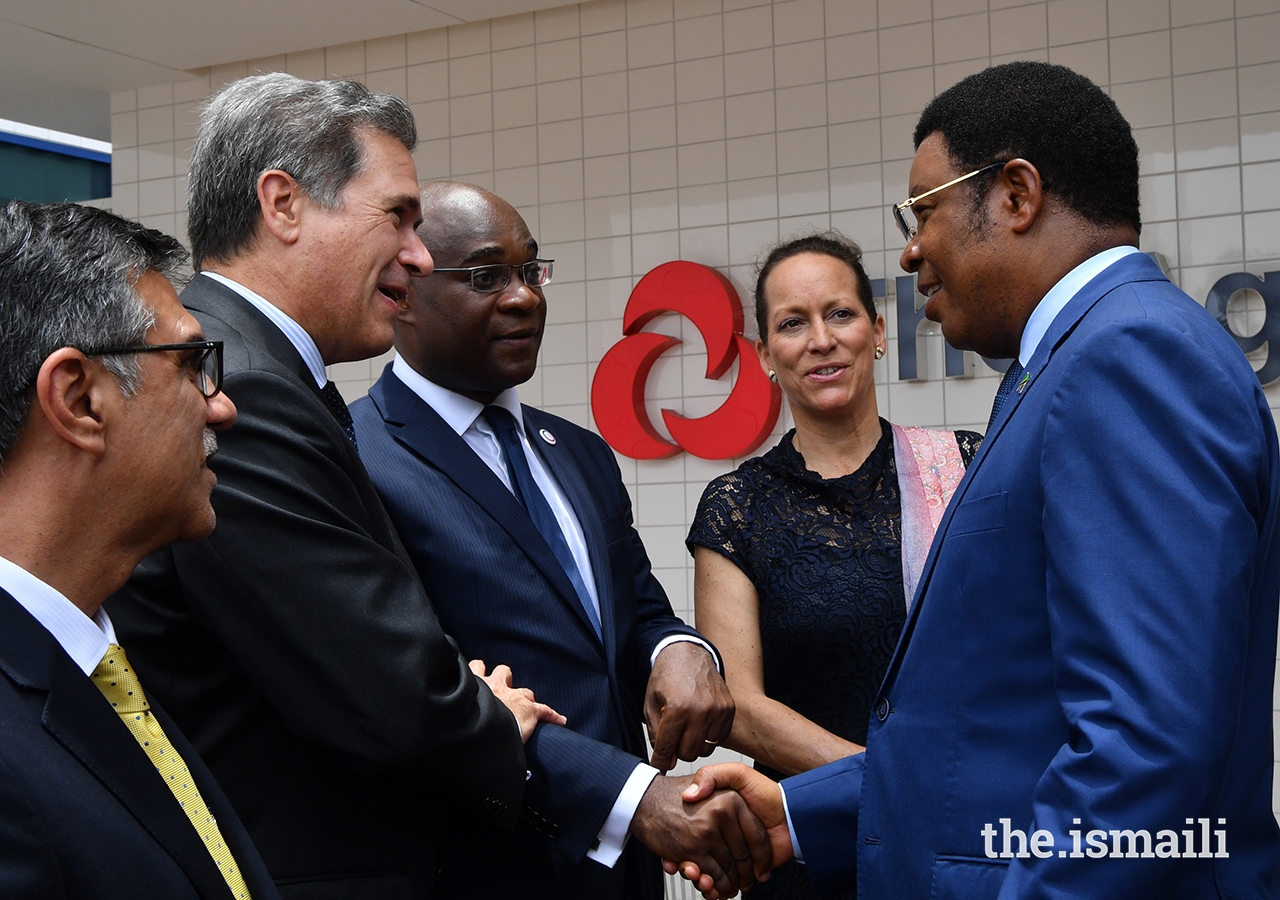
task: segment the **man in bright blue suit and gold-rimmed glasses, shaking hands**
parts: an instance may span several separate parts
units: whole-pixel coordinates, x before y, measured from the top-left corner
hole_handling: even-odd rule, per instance
[[[783,781],[786,816],[749,771],[699,785],[745,791],[778,855],[868,900],[1275,897],[1280,458],[1257,378],[1138,252],[1138,149],[1092,82],[987,69],[915,145],[902,266],[947,341],[1012,375],[867,751]]]

